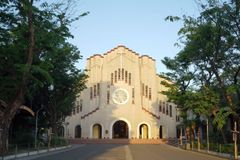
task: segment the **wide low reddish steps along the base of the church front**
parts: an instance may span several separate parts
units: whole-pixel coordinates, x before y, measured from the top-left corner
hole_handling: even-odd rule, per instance
[[[165,139],[69,139],[72,144],[166,144]]]

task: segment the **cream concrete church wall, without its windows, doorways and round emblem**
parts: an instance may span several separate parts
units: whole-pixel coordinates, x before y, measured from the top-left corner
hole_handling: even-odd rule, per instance
[[[123,68],[124,72],[131,73],[131,85],[122,80],[111,85],[111,73]],[[160,91],[165,90],[160,84],[163,79],[156,75],[155,60],[149,56],[139,56],[134,51],[118,46],[103,55],[93,55],[88,59],[88,82],[79,99],[83,100],[83,110],[80,113],[66,118],[69,122],[68,129],[70,137],[74,137],[75,126],[82,127],[82,137],[93,138],[92,126],[96,123],[102,126],[102,137],[112,138],[112,126],[117,120],[123,120],[128,124],[129,138],[139,137],[141,124],[148,126],[148,137],[158,138],[160,125],[166,128],[165,137],[176,136],[176,108],[172,105],[172,117],[159,112],[159,101],[167,102],[167,97]],[[124,73],[125,75],[125,73]],[[129,77],[129,76],[128,76]],[[113,76],[114,81],[115,76]],[[117,77],[118,78],[118,77]],[[100,84],[100,95],[90,99],[90,87]],[[142,96],[142,84],[151,88],[151,96]],[[112,100],[112,93],[117,88],[126,89],[129,93],[129,100],[126,104],[116,104]],[[134,104],[132,104],[132,88],[135,90]],[[107,91],[110,92],[110,103],[107,104]],[[145,92],[145,89],[144,89]],[[149,92],[149,90],[148,90]],[[94,93],[93,93],[94,94]],[[142,107],[160,116],[160,120],[145,112]],[[91,111],[99,108],[93,114],[81,118]],[[67,133],[67,132],[65,132]]]

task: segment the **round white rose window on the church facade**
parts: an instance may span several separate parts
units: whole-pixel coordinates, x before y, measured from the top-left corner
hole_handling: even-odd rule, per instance
[[[129,94],[126,89],[116,89],[112,94],[112,100],[116,104],[126,104],[129,99]]]

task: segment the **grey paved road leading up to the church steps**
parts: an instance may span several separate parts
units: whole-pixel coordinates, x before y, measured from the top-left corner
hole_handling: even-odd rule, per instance
[[[223,160],[168,145],[78,145],[28,160]],[[26,160],[26,158],[25,158]]]

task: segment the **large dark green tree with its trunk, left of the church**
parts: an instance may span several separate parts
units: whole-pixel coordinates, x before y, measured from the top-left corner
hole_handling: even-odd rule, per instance
[[[60,12],[62,5],[36,7],[33,0],[0,4],[0,153],[7,150],[8,129],[22,104],[35,110],[38,104],[45,110],[58,105],[63,117],[84,88],[86,76],[74,66],[81,56],[67,39],[73,37],[70,24],[87,13],[70,19],[66,10]],[[43,103],[34,97],[40,91],[47,93],[42,95],[47,96]],[[61,101],[60,96],[64,96]]]

